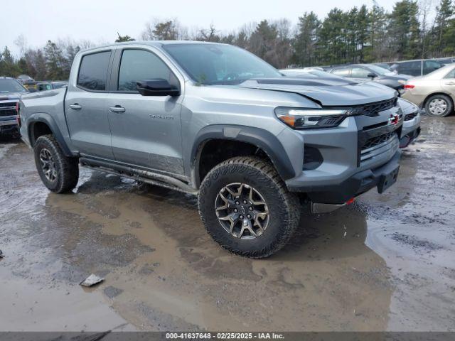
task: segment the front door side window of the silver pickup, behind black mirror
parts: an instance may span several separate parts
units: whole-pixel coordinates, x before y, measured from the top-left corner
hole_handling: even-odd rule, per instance
[[[154,53],[146,50],[124,50],[120,62],[119,91],[137,91],[139,80],[167,80],[171,85],[178,85],[171,69]]]

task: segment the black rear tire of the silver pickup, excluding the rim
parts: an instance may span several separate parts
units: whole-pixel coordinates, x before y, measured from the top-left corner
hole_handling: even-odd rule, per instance
[[[50,152],[55,164],[55,180],[46,178],[43,167],[41,166],[40,153],[45,148]],[[55,193],[65,193],[73,190],[79,179],[79,166],[77,158],[69,158],[65,156],[62,149],[58,145],[52,135],[42,135],[36,139],[33,146],[35,154],[35,164],[38,174],[43,181],[45,187]]]

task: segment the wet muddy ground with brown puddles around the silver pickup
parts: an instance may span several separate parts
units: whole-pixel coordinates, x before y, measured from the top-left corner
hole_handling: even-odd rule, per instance
[[[1,142],[0,330],[453,331],[455,117],[422,128],[396,185],[263,260],[220,249],[191,195],[87,169],[55,195]]]

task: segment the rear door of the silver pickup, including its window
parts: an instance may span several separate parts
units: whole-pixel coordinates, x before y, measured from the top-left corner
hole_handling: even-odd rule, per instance
[[[73,145],[82,155],[113,159],[107,121],[109,65],[112,50],[82,55],[75,84],[68,85],[65,114]],[[77,63],[76,61],[76,63]]]

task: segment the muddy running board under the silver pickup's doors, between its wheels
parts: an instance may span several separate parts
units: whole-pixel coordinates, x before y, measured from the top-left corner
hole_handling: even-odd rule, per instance
[[[153,173],[150,171],[144,171],[128,166],[121,166],[100,160],[93,160],[92,158],[79,158],[79,163],[80,166],[90,168],[95,171],[102,171],[105,173],[119,175],[124,178],[138,180],[144,183],[150,183],[151,185],[158,185],[161,187],[169,188],[171,190],[178,190],[179,192],[183,193],[197,195],[199,192],[186,183],[183,183],[183,181],[173,178],[169,175]]]

